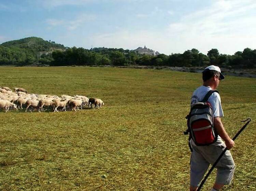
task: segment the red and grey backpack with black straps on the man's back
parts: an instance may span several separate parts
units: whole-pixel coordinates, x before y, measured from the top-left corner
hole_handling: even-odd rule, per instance
[[[218,134],[213,126],[212,106],[208,102],[209,97],[217,90],[210,90],[204,96],[203,100],[191,104],[190,112],[186,116],[188,129],[184,132],[189,133],[189,140],[193,139],[196,145],[204,146],[216,142]],[[190,150],[192,151],[189,143]]]

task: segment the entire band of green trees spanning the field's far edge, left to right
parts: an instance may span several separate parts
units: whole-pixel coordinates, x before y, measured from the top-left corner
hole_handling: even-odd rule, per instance
[[[63,46],[63,45],[62,45]],[[233,55],[220,54],[211,49],[207,55],[197,49],[171,55],[141,55],[132,50],[116,48],[66,48],[40,53],[31,48],[0,45],[0,65],[47,64],[50,66],[90,66],[90,65],[144,65],[170,67],[197,67],[210,64],[231,68],[254,68],[256,66],[256,49],[245,48]]]

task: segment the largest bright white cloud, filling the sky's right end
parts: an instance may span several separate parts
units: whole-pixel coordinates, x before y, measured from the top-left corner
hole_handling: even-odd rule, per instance
[[[179,22],[171,23],[167,31],[170,38],[179,36],[181,44],[198,47],[203,53],[218,48],[221,53],[233,54],[253,47],[255,8],[256,2],[250,0],[219,0],[205,10],[181,17]]]

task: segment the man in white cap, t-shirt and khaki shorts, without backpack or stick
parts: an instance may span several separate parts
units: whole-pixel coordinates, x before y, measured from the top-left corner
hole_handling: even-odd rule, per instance
[[[191,97],[191,104],[201,101],[209,90],[215,90],[219,82],[225,77],[222,75],[221,69],[218,66],[211,65],[204,69],[202,78],[203,85],[194,91]],[[215,143],[208,146],[197,146],[192,139],[190,140],[190,144],[193,148],[190,159],[190,191],[197,190],[209,165],[216,161],[225,147],[228,148],[228,151],[226,151],[216,165],[217,175],[211,191],[218,191],[224,185],[230,184],[234,174],[235,165],[229,151],[234,146],[234,141],[228,136],[221,122],[221,117],[224,116],[221,106],[221,97],[217,92],[214,92],[209,97],[208,102],[212,105],[214,116],[213,124],[218,133],[218,138]]]

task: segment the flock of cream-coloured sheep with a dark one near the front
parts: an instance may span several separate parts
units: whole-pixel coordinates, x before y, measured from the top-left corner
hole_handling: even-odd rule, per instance
[[[44,107],[52,109],[54,112],[67,111],[67,110],[82,110],[86,105],[89,108],[100,108],[104,102],[98,98],[87,98],[83,95],[44,95],[28,93],[23,88],[14,88],[14,92],[9,87],[0,87],[0,109],[7,112],[9,109],[23,109],[26,107],[26,112],[29,109],[44,111]]]

